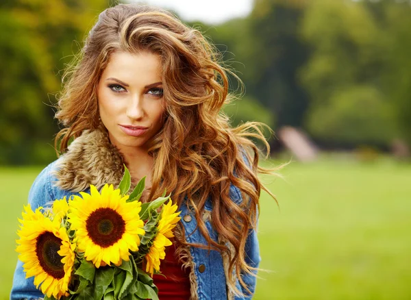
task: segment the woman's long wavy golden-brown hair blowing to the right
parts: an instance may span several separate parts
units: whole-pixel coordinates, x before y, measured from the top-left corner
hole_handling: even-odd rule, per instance
[[[266,125],[229,125],[221,108],[232,101],[227,79],[231,71],[222,66],[218,51],[197,29],[149,5],[120,4],[101,12],[63,77],[55,117],[65,128],[55,137],[56,148],[64,153],[73,138],[100,126],[97,84],[113,51],[151,51],[162,60],[166,121],[149,149],[154,158],[149,200],[164,189],[178,205],[187,197],[208,249],[228,255],[227,284],[239,292],[237,277],[248,290],[240,274],[255,271],[246,262],[245,245],[249,230],[256,227],[260,190],[275,199],[258,173],[275,174],[277,169],[258,166],[260,150],[252,140],[265,145],[268,157],[270,147],[262,134]],[[230,198],[230,184],[240,189],[241,203]],[[208,235],[201,216],[209,196],[212,227],[230,246],[214,242]],[[204,247],[188,244],[184,238],[178,242]]]

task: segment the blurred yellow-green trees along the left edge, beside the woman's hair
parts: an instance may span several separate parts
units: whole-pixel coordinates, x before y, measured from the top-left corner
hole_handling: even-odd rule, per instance
[[[0,4],[0,164],[55,158],[53,94],[93,18],[108,1],[16,0]],[[74,49],[73,49],[74,48]],[[46,105],[45,105],[46,104]]]

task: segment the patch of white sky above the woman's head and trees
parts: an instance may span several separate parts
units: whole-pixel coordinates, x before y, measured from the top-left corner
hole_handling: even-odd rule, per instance
[[[172,9],[184,21],[203,21],[208,24],[223,23],[230,18],[247,16],[253,7],[253,0],[143,0],[145,2]]]

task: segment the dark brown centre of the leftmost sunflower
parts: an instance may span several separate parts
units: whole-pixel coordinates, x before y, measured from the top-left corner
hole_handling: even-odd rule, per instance
[[[61,245],[62,240],[51,232],[40,234],[36,242],[36,255],[40,266],[55,279],[64,277],[63,257],[57,253],[60,251]]]

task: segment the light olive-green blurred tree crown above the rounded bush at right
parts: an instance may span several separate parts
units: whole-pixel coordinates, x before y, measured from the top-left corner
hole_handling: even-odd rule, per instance
[[[378,29],[360,4],[325,0],[310,3],[301,33],[312,46],[312,55],[301,70],[301,79],[312,101],[321,105],[343,88],[375,80]]]

